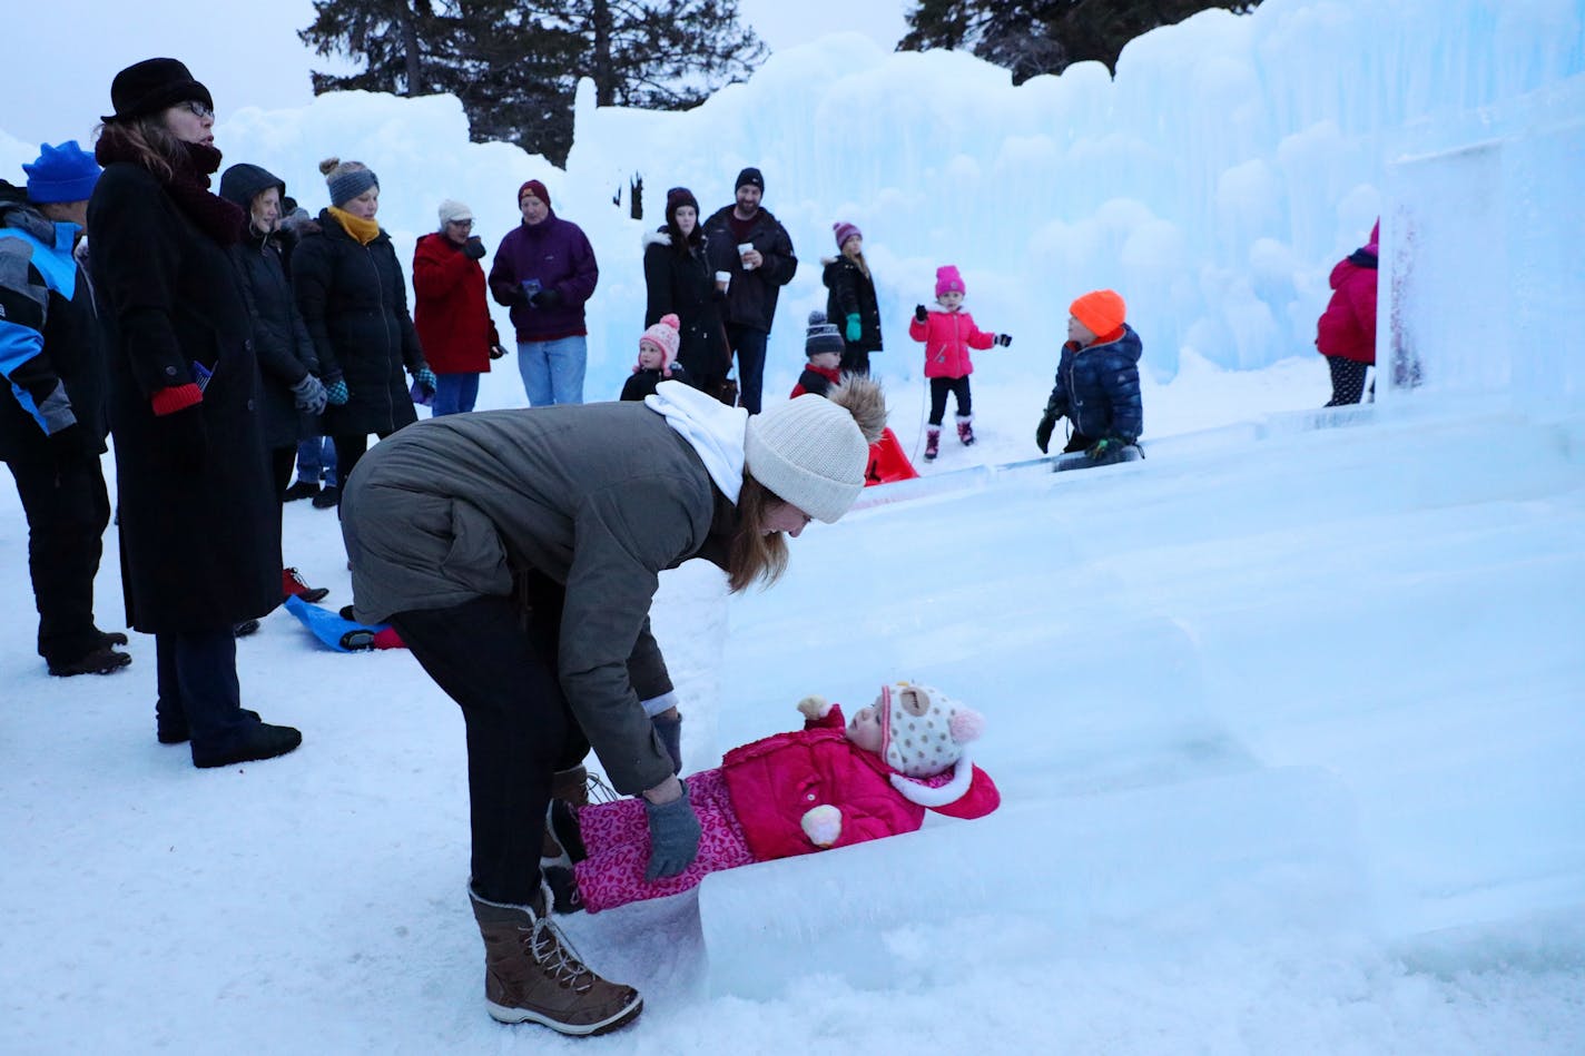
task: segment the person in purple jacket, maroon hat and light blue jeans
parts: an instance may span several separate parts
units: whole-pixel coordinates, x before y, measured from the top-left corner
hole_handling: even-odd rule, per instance
[[[583,301],[599,281],[594,247],[577,224],[555,214],[537,179],[518,187],[517,208],[523,222],[496,249],[490,295],[512,309],[528,404],[583,403]]]

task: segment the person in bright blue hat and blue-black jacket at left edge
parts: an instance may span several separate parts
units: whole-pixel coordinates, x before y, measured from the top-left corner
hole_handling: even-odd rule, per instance
[[[73,255],[100,166],[76,141],[48,143],[22,166],[27,190],[0,181],[0,458],[27,514],[38,653],[52,675],[109,674],[132,663],[127,636],[94,625],[109,496],[108,385],[94,292]]]

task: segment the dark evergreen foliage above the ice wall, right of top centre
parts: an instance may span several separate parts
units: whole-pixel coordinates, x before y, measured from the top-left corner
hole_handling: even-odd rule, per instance
[[[965,49],[1022,84],[1097,60],[1117,71],[1122,46],[1197,11],[1254,11],[1260,0],[918,0],[897,51]]]

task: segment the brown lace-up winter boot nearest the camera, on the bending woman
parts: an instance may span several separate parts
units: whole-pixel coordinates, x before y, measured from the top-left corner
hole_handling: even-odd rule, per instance
[[[540,885],[529,905],[468,897],[485,940],[485,1008],[501,1023],[540,1023],[560,1034],[605,1034],[632,1023],[644,997],[591,972],[561,935]]]

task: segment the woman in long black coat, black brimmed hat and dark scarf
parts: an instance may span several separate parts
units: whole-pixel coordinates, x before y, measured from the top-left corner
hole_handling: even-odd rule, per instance
[[[244,216],[209,193],[209,90],[174,59],[116,75],[89,201],[109,358],[127,623],[155,636],[157,733],[195,766],[303,737],[244,710],[231,626],[281,604],[281,533],[258,363],[228,247]]]

